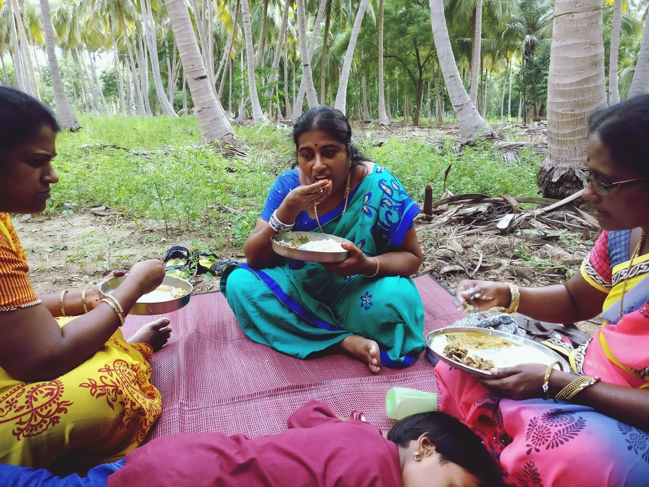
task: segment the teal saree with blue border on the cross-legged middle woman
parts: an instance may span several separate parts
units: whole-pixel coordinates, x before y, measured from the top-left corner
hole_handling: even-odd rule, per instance
[[[321,216],[323,231],[351,240],[368,256],[395,251],[419,206],[387,169],[374,167],[343,204]],[[319,232],[315,219],[295,231]],[[298,358],[352,334],[375,340],[381,364],[407,367],[424,346],[424,310],[410,277],[339,277],[315,262],[283,259],[268,269],[228,266],[221,291],[245,334]]]

